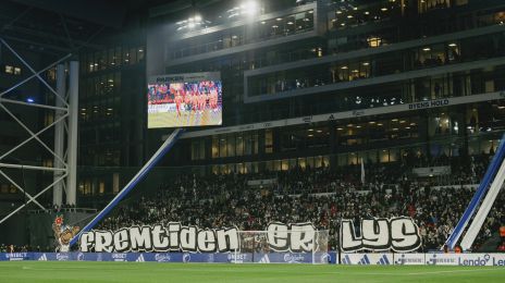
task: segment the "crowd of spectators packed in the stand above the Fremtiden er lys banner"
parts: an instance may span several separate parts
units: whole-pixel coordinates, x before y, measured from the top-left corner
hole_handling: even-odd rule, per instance
[[[396,173],[394,173],[396,171]],[[200,227],[237,226],[264,230],[269,222],[311,222],[330,233],[329,247],[337,248],[340,220],[360,218],[411,217],[420,229],[420,251],[440,250],[468,206],[471,186],[434,187],[429,183],[402,180],[398,168],[378,167],[367,172],[367,184],[356,174],[343,174],[330,168],[295,169],[262,174],[227,174],[206,177],[182,175],[162,185],[156,195],[131,200],[107,218],[100,229],[182,222]],[[251,186],[250,180],[275,180],[264,186]],[[358,179],[359,180],[359,179]],[[396,186],[386,186],[397,181]],[[480,247],[505,223],[498,199],[476,241]]]

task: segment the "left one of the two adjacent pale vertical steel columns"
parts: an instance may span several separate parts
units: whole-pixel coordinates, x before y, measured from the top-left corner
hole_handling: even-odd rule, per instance
[[[58,95],[65,99],[65,89],[66,89],[66,81],[65,81],[65,65],[59,64],[57,66],[57,93]],[[63,101],[61,99],[56,99],[56,106],[60,108],[64,108]],[[54,120],[60,119],[64,112],[62,110],[57,110]],[[64,121],[59,122],[54,125],[54,153],[59,156],[61,159],[64,157],[64,143],[65,143],[65,128],[64,128]],[[54,168],[63,169],[65,164],[63,164],[58,158],[54,157]],[[61,177],[63,172],[58,171],[54,172],[53,180],[54,182]],[[63,199],[63,181],[60,181],[54,184],[52,190],[52,205],[61,206]]]

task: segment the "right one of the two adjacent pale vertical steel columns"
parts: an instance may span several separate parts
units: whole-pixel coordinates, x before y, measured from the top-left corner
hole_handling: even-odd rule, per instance
[[[75,205],[77,189],[78,62],[71,61],[69,71],[69,176],[66,179],[66,205]]]

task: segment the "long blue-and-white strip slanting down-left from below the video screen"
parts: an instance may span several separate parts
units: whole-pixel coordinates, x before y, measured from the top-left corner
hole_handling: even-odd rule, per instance
[[[161,147],[152,155],[151,159],[137,172],[137,174],[130,181],[128,184],[107,205],[81,232],[75,235],[70,245],[73,246],[79,238],[83,232],[91,230],[100,220],[102,220],[140,182],[146,174],[163,158],[163,156],[173,147],[175,142],[184,131],[182,128],[175,130],[169,138],[161,145]]]

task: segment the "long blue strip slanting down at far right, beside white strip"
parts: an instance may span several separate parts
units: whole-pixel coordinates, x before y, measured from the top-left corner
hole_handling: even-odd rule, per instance
[[[491,163],[488,167],[488,171],[485,172],[485,175],[482,179],[482,182],[477,188],[477,192],[473,195],[470,201],[470,205],[468,205],[467,209],[465,210],[465,213],[463,213],[463,217],[457,223],[453,233],[448,236],[447,241],[445,242],[445,244],[451,249],[453,249],[456,246],[457,242],[459,241],[459,237],[463,235],[463,232],[465,231],[465,227],[468,225],[468,222],[476,213],[477,207],[479,206],[485,193],[488,192],[491,181],[496,175],[496,172],[503,162],[504,156],[505,156],[505,134],[502,136],[502,139],[500,140],[500,145],[496,149],[496,152],[494,153],[493,160],[491,160]]]

